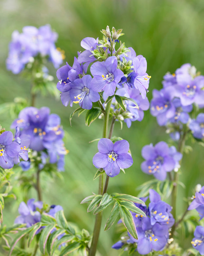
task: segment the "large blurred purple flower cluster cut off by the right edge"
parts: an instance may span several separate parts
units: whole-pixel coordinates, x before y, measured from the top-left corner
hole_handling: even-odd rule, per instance
[[[153,90],[151,114],[156,116],[159,125],[177,127],[177,130],[181,130],[183,124],[190,123],[194,137],[203,138],[204,118],[201,115],[198,120],[191,120],[189,115],[194,105],[204,107],[203,87],[204,76],[196,73],[191,64],[183,64],[175,73],[164,76],[163,89]]]

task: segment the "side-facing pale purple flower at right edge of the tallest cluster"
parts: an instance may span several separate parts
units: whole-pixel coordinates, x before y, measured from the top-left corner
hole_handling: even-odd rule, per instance
[[[151,78],[151,76],[146,73],[147,61],[142,55],[140,55],[133,59],[133,65],[135,71],[134,88],[140,91],[142,98],[144,99],[146,97],[149,80]]]

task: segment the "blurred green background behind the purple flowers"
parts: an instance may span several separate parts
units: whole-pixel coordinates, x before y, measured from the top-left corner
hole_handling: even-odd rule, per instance
[[[182,64],[191,63],[204,74],[203,0],[1,0],[0,3],[0,103],[13,101],[16,96],[30,97],[30,82],[20,75],[12,74],[5,67],[11,33],[14,30],[22,32],[22,28],[27,25],[39,27],[51,24],[52,29],[59,34],[56,45],[65,50],[65,60],[70,65],[77,51],[83,50],[80,46],[83,38],[101,38],[100,30],[107,25],[110,28],[122,28],[125,35],[121,40],[126,47],[133,47],[137,55],[142,54],[147,59],[147,72],[152,76],[149,100],[154,88],[161,89],[162,77],[167,71],[173,73]],[[56,70],[51,65],[50,72],[57,83]],[[92,165],[97,142],[89,141],[102,136],[102,120],[96,120],[86,127],[82,114],[79,118],[73,117],[71,127],[69,116],[77,106],[64,107],[60,100],[38,95],[36,107],[42,106],[48,106],[51,113],[60,115],[67,131],[65,144],[70,150],[66,156],[66,171],[62,173],[63,180],[43,176],[43,199],[48,204],[62,205],[68,220],[92,232],[92,212],[87,213],[87,205],[80,205],[80,201],[92,192],[97,192],[98,180],[93,181],[96,168]],[[11,122],[8,113],[0,116],[0,123],[6,129],[10,129]],[[124,124],[121,131],[120,124],[116,123],[114,135],[129,141],[134,163],[126,170],[126,174],[120,173],[110,179],[108,192],[136,196],[137,186],[152,178],[140,169],[142,147],[161,140],[168,141],[169,137],[149,111],[145,112],[142,122],[133,122],[130,129]],[[186,208],[183,198],[192,196],[197,183],[204,185],[203,147],[194,144],[193,148],[193,152],[183,158],[183,175],[180,179],[186,189],[179,188],[178,214]],[[32,196],[36,197],[35,191],[32,191]],[[6,224],[12,225],[18,215],[19,203],[19,198],[15,203],[11,200],[6,203],[3,212]],[[108,208],[104,214],[102,227],[110,210]],[[116,225],[106,232],[102,228],[99,242],[101,255],[118,255],[116,250],[111,249],[120,235],[116,230]],[[183,239],[181,243],[191,247]]]

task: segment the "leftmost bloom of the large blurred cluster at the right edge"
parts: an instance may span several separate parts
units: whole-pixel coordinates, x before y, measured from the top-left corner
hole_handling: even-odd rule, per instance
[[[171,117],[175,115],[175,107],[172,103],[173,95],[171,88],[153,90],[153,99],[150,103],[150,112],[156,116],[159,125],[165,125]]]

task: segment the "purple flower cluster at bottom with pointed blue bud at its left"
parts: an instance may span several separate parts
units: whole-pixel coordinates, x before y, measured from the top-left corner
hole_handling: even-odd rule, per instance
[[[135,204],[146,213],[147,217],[132,213],[135,226],[137,228],[138,240],[134,239],[129,233],[129,238],[115,243],[112,248],[120,249],[122,246],[135,244],[135,250],[139,254],[148,254],[151,251],[161,251],[168,243],[169,229],[173,226],[174,218],[171,214],[171,206],[161,201],[160,195],[150,189],[149,207]],[[146,201],[147,198],[141,198]]]

